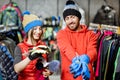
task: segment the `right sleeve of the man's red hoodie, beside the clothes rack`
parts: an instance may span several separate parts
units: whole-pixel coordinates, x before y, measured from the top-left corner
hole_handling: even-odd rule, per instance
[[[89,34],[88,46],[87,46],[87,55],[90,58],[90,62],[94,62],[97,59],[97,41],[99,33],[91,32]]]

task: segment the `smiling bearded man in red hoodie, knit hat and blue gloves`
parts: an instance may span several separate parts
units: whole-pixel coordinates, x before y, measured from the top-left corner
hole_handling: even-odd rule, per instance
[[[63,10],[66,28],[57,33],[61,55],[61,80],[95,80],[98,35],[81,25],[81,14],[71,0]]]

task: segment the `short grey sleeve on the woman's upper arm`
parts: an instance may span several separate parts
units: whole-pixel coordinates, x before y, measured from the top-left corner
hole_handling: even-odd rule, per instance
[[[21,50],[18,46],[16,46],[15,51],[14,51],[14,63],[13,63],[13,65],[15,65],[16,63],[18,63],[22,60],[21,56],[22,56]]]

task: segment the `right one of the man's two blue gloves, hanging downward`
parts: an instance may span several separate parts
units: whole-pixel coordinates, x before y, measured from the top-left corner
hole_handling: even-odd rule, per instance
[[[88,80],[90,78],[90,72],[89,72],[89,69],[88,69],[88,63],[89,63],[90,59],[87,55],[81,55],[80,56],[80,62],[81,62],[81,65],[82,65],[82,77],[84,80]]]

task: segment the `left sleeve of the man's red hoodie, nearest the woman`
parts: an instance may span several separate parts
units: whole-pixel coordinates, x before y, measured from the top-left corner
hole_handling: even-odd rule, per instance
[[[75,57],[75,50],[70,44],[65,31],[61,30],[57,33],[57,45],[62,55],[66,56],[69,61]]]

